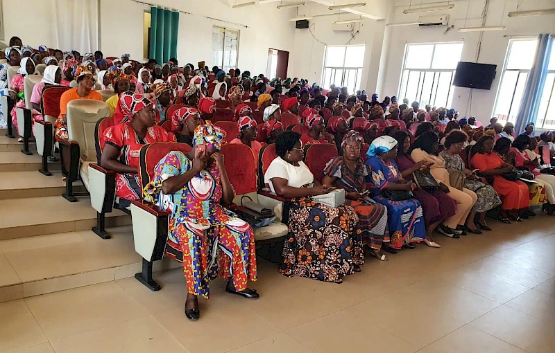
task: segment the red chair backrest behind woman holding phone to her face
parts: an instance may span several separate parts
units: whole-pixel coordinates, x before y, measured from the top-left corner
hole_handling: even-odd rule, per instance
[[[187,153],[191,150],[191,146],[185,143],[176,142],[157,142],[149,143],[141,147],[139,153],[139,184],[141,190],[151,182],[154,177],[154,168],[171,151],[181,151]]]

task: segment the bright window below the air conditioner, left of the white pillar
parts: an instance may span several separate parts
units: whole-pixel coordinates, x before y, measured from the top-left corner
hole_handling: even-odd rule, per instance
[[[350,93],[360,88],[365,46],[326,46],[323,87],[347,87]]]

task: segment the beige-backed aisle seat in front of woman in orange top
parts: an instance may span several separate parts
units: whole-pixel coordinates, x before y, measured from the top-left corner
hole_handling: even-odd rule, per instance
[[[110,116],[110,109],[99,100],[77,99],[67,104],[67,132],[69,140],[58,141],[62,174],[66,177],[66,192],[62,196],[70,202],[74,196],[73,182],[81,179],[89,190],[89,163],[96,163],[94,134],[96,123]]]

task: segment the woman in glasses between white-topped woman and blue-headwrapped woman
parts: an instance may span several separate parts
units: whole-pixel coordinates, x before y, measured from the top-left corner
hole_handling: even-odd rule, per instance
[[[378,260],[387,261],[386,255],[381,252],[382,244],[389,242],[387,208],[367,196],[370,191],[366,190],[368,166],[360,156],[363,141],[358,132],[351,131],[345,135],[341,143],[343,156],[325,165],[322,183],[345,189],[345,205],[351,206],[359,216],[353,239],[371,248],[372,255]]]

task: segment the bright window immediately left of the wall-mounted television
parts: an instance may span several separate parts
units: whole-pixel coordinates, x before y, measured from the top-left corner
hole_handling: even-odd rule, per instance
[[[463,43],[407,44],[399,98],[416,100],[420,107],[450,107],[462,51]]]

